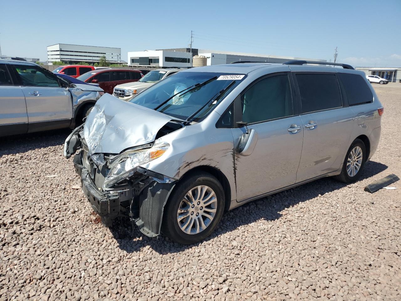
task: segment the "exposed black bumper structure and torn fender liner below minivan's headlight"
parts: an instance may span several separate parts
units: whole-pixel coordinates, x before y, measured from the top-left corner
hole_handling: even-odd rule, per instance
[[[138,174],[142,178],[136,185],[126,184],[103,192],[91,180],[80,154],[74,157],[74,166],[81,175],[83,193],[104,226],[112,226],[113,220],[120,216],[130,218],[146,236],[160,234],[164,205],[175,186],[174,179],[140,168]]]

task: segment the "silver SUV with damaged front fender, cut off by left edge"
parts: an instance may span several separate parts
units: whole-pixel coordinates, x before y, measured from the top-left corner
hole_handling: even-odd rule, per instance
[[[0,59],[0,136],[75,128],[103,94],[35,63]]]

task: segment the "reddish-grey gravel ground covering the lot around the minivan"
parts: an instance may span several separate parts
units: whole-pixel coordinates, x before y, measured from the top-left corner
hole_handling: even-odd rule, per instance
[[[401,84],[363,179],[321,179],[239,207],[180,246],[99,224],[62,156],[68,130],[0,141],[0,300],[401,300]]]

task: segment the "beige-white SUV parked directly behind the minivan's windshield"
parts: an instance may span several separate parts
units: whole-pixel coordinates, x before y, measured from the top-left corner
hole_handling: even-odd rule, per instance
[[[154,85],[158,81],[181,71],[180,69],[155,69],[144,75],[139,81],[134,83],[123,83],[113,89],[113,95],[122,100],[131,100],[136,94]]]

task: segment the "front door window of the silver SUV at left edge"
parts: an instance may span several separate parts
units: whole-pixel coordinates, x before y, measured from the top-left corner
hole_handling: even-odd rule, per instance
[[[30,65],[10,65],[15,68],[20,79],[20,83],[34,87],[59,87],[59,81],[53,74],[41,71],[35,66]]]

